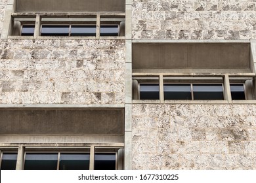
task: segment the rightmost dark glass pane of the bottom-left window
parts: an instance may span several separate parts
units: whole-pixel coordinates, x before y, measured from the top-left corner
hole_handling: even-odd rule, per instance
[[[115,170],[116,153],[95,154],[95,170]]]

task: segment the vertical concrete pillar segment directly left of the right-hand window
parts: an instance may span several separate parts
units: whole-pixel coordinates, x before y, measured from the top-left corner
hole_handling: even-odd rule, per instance
[[[131,103],[132,99],[132,68],[131,63],[125,63],[125,103]]]

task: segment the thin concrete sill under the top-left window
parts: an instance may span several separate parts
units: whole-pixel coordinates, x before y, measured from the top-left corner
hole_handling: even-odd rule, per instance
[[[8,39],[96,39],[95,36],[39,36],[37,38],[34,38],[33,36],[14,36],[10,35],[8,36]],[[99,39],[125,39],[124,36],[104,36],[100,37]]]

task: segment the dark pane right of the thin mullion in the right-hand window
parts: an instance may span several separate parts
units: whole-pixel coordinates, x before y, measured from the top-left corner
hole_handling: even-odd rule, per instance
[[[223,100],[222,84],[193,84],[194,100]]]

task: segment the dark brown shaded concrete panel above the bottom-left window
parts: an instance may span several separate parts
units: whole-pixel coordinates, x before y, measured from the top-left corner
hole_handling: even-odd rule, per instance
[[[0,110],[0,134],[123,135],[124,110]]]

